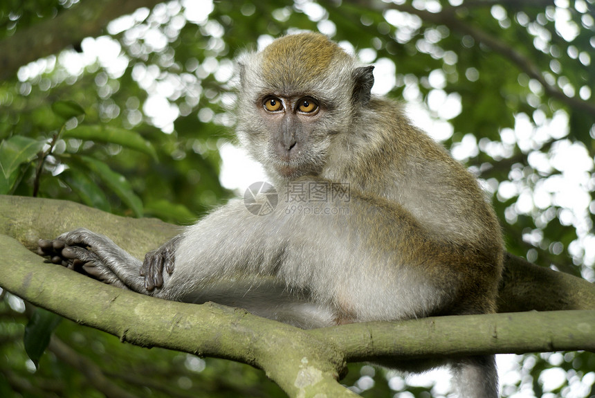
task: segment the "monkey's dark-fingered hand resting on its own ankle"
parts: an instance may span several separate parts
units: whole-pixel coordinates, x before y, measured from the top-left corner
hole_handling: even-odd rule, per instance
[[[145,261],[140,266],[140,275],[145,277],[145,289],[148,291],[163,286],[164,269],[168,275],[172,275],[174,272],[175,253],[180,239],[181,235],[178,235],[170,242],[145,255]]]

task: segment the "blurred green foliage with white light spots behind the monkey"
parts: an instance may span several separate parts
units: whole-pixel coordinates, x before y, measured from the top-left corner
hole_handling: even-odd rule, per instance
[[[42,24],[68,38],[52,22],[90,1],[0,2],[0,194],[191,223],[262,178],[224,150],[233,58],[320,30],[375,64],[375,92],[402,99],[477,174],[511,253],[595,280],[593,0],[129,0],[138,10],[59,53],[20,64],[28,46],[3,53],[23,37],[53,39]],[[0,294],[1,397],[283,396],[246,365],[134,347],[66,320],[36,368],[23,344],[33,310]],[[595,397],[593,354],[499,361],[504,397]],[[447,396],[439,374],[352,365],[344,383],[364,397]]]

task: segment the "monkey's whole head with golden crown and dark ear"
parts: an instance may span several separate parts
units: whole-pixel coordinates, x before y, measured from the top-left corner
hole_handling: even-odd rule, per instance
[[[336,136],[368,105],[373,66],[319,33],[276,39],[239,59],[237,133],[270,177],[318,175]]]

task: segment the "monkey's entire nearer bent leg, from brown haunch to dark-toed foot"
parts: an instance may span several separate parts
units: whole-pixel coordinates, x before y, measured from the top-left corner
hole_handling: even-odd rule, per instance
[[[271,298],[243,300],[249,291],[269,289],[271,278],[282,297],[273,296],[285,308],[297,303],[296,312],[306,316],[301,304],[313,302],[320,319],[333,314],[335,322],[351,322],[484,311],[464,302],[463,293],[473,286],[475,296],[493,296],[495,284],[491,292],[485,275],[497,272],[488,253],[466,250],[464,242],[444,244],[398,203],[353,191],[348,202],[288,200],[262,216],[248,212],[241,200],[230,201],[149,253],[157,258],[154,272],[171,269],[174,252],[174,272],[163,273],[163,287],[154,291],[145,287],[140,260],[107,237],[75,230],[55,242],[67,246],[61,261],[111,284],[185,302],[223,298],[271,318],[277,318],[276,309],[270,306],[267,314],[264,305],[275,302]],[[449,307],[453,303],[457,307]]]

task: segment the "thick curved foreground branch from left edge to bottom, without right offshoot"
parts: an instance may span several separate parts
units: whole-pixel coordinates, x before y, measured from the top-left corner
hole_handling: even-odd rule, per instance
[[[143,347],[231,359],[263,369],[291,397],[354,397],[337,382],[338,348],[302,329],[214,303],[192,305],[143,296],[46,264],[0,235],[0,287],[77,323]]]

